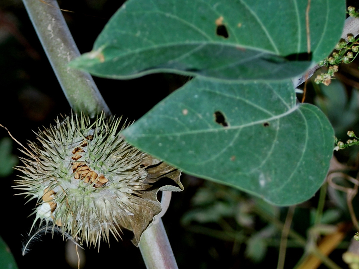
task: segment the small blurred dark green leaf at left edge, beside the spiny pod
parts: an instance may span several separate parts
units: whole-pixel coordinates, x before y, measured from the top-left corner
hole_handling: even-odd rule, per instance
[[[18,158],[11,154],[12,140],[5,137],[0,140],[0,177],[7,177],[13,172],[13,167],[18,163]]]

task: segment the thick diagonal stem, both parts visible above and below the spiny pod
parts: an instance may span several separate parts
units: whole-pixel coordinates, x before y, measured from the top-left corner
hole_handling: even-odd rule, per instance
[[[67,67],[80,52],[71,36],[56,0],[23,0],[53,71],[74,111],[90,117],[109,110],[89,73]],[[140,250],[148,269],[176,269],[177,264],[162,220],[148,228],[141,237]]]

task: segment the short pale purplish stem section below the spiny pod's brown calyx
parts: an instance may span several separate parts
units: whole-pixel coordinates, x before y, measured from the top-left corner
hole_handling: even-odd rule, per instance
[[[143,232],[139,247],[146,268],[178,269],[161,219]]]

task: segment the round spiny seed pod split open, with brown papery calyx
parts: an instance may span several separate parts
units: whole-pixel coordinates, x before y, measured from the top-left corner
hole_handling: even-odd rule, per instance
[[[110,234],[121,237],[125,228],[139,244],[162,210],[157,192],[183,186],[179,170],[123,140],[120,120],[67,116],[28,144],[17,189],[37,200],[33,226],[37,220],[52,224],[87,245],[108,241]]]

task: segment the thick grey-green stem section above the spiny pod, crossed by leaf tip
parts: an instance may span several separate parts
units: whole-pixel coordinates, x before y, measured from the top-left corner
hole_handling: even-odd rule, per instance
[[[57,80],[74,111],[94,117],[111,112],[89,73],[67,67],[80,52],[56,0],[23,0]],[[50,86],[49,86],[50,87]]]

